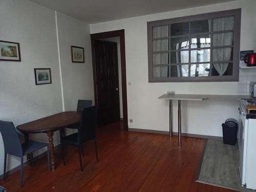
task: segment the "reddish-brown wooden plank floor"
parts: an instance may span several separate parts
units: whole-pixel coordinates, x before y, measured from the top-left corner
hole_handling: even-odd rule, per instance
[[[79,169],[78,149],[67,148],[66,166],[56,151],[57,168],[48,172],[46,157],[24,170],[24,188],[19,171],[0,185],[10,191],[232,191],[195,182],[205,140],[122,131],[122,122],[101,127],[97,133],[99,162],[93,142],[84,147]]]

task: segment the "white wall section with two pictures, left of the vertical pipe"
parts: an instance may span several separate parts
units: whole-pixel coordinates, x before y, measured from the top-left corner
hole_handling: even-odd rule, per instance
[[[0,1],[0,39],[20,43],[21,62],[0,61],[0,119],[22,124],[62,111],[54,11],[26,1]],[[51,68],[52,84],[35,86],[34,68]],[[32,135],[47,141],[45,134]],[[54,141],[58,141],[55,134]],[[0,139],[0,173],[4,145]],[[8,169],[20,163],[8,156]]]

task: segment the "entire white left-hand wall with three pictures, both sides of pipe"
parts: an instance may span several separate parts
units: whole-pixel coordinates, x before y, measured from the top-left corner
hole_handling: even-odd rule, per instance
[[[89,25],[66,15],[57,16],[60,63],[55,11],[24,0],[0,0],[0,40],[19,42],[22,59],[0,61],[1,120],[13,121],[16,126],[61,112],[60,66],[65,110],[75,110],[78,98],[93,99]],[[85,48],[86,63],[70,62],[71,45]],[[34,68],[51,68],[52,84],[35,86]],[[48,142],[46,134],[30,135],[30,139]],[[58,143],[59,133],[54,132],[54,144]],[[0,134],[0,175],[3,158]],[[19,158],[8,156],[7,169],[19,164]]]

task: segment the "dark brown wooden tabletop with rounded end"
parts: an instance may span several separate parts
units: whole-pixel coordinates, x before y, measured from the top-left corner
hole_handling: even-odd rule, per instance
[[[41,133],[59,130],[60,128],[70,124],[78,123],[79,120],[79,112],[61,112],[55,115],[18,125],[16,128],[18,131],[23,133]]]

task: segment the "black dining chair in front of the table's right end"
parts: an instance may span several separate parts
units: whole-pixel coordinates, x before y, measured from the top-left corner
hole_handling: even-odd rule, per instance
[[[98,162],[98,148],[96,139],[96,123],[97,123],[97,107],[90,106],[89,108],[83,108],[81,118],[78,126],[78,132],[61,138],[61,148],[63,164],[65,165],[65,145],[78,146],[80,169],[82,169],[82,144],[89,140],[94,140],[96,161]]]

